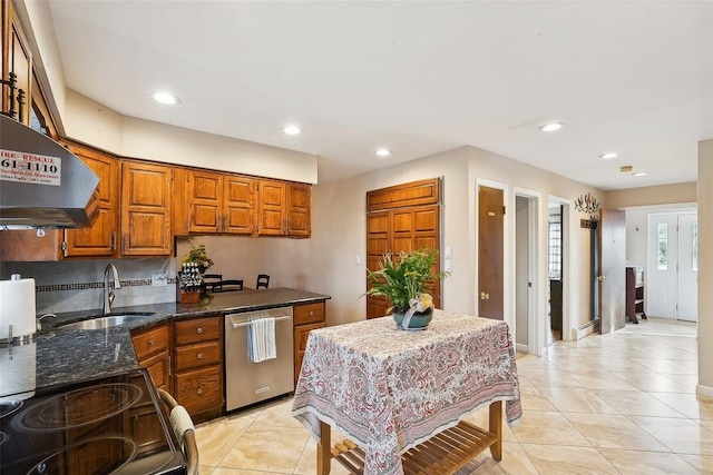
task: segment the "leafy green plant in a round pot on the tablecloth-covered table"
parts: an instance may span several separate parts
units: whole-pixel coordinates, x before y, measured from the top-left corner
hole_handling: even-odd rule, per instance
[[[433,273],[438,250],[428,248],[401,251],[397,257],[383,256],[381,268],[369,271],[369,289],[364,295],[391,300],[391,315],[403,328],[424,328],[432,318],[433,285],[450,273]]]

